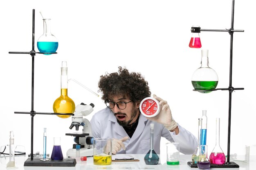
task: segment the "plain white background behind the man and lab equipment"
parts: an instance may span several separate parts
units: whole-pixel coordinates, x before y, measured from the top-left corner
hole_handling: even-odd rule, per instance
[[[61,3],[60,3],[61,2]],[[227,154],[228,91],[208,94],[193,90],[191,76],[200,67],[201,49],[189,48],[191,26],[202,29],[231,27],[231,0],[9,0],[0,5],[0,146],[9,144],[14,131],[15,144],[30,153],[30,115],[14,111],[31,110],[31,56],[8,54],[31,51],[32,9],[35,16],[35,44],[43,34],[39,11],[52,18],[52,34],[59,42],[58,54],[35,57],[34,110],[52,112],[60,96],[61,62],[67,61],[68,78],[98,91],[100,75],[118,71],[118,66],[140,72],[152,94],[168,101],[173,118],[198,135],[198,118],[207,110],[209,153],[216,144],[216,117],[220,117],[220,146]],[[256,2],[236,0],[234,29],[231,153],[243,154],[245,145],[255,145],[255,16]],[[48,18],[45,16],[45,18]],[[200,33],[202,49],[209,49],[209,66],[219,77],[218,88],[229,86],[229,45],[227,32]],[[35,50],[38,51],[35,46]],[[94,103],[94,112],[105,108],[100,97],[78,84],[68,84],[75,104]],[[72,147],[71,117],[34,117],[34,152],[43,152],[43,128],[47,128],[47,153],[53,137],[61,137],[63,155]],[[81,130],[80,130],[81,132]],[[165,151],[162,140],[162,152]]]

